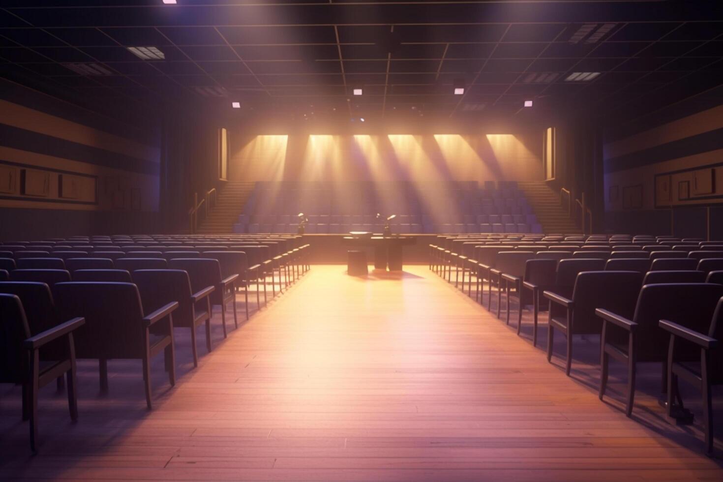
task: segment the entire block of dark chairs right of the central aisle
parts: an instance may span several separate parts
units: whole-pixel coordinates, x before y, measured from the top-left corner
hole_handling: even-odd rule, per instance
[[[494,241],[497,244],[492,244]],[[502,244],[505,241],[507,244]],[[578,239],[581,243],[573,249],[579,250],[573,251],[565,250],[566,245],[561,244],[564,241],[559,240],[548,239],[550,245],[542,245],[544,249],[540,250],[534,250],[541,245],[530,244],[531,240],[505,241],[440,236],[437,244],[429,245],[429,267],[462,291],[467,288],[469,296],[474,283],[474,296],[483,305],[487,283],[487,309],[492,309],[494,289],[497,317],[505,297],[507,324],[510,301],[516,298],[518,335],[523,309],[531,306],[533,345],[537,343],[539,311],[547,309],[547,360],[552,359],[555,334],[562,334],[567,342],[568,376],[573,362],[573,335],[599,335],[599,396],[602,399],[607,389],[609,359],[625,363],[629,374],[625,407],[628,416],[633,410],[638,362],[658,362],[666,368],[662,386],[667,392],[670,417],[690,417],[677,382],[693,381],[703,393],[706,449],[711,453],[709,393],[712,384],[723,382],[723,351],[717,349],[717,340],[723,337],[723,251],[705,248],[715,248],[716,242],[688,240],[685,242],[689,244],[673,244],[688,249],[674,250],[659,244],[668,241],[646,238],[649,244],[644,246],[649,249],[667,247],[648,251],[636,244],[620,244],[623,236],[605,236],[604,240]],[[625,241],[632,242],[633,238],[625,237]],[[703,242],[706,244],[701,245]],[[610,244],[617,247],[611,249]],[[674,350],[674,346],[680,348]],[[698,362],[697,366],[694,362]]]

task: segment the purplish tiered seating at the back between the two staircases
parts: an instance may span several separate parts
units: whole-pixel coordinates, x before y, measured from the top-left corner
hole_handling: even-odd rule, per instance
[[[418,186],[411,183],[257,182],[234,225],[236,233],[296,233],[297,215],[307,233],[381,232],[395,214],[395,233],[542,233],[513,181],[474,181]]]

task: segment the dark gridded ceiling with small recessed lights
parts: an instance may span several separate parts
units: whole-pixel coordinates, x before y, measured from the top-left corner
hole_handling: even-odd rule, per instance
[[[299,120],[625,122],[723,83],[718,1],[177,2],[2,0],[0,72],[87,100]],[[127,50],[150,46],[164,59]]]

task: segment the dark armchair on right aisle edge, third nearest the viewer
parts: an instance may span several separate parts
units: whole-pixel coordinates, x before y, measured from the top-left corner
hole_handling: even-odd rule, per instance
[[[570,298],[554,291],[544,291],[545,298],[550,301],[547,361],[552,359],[557,330],[567,339],[565,374],[570,376],[573,335],[597,335],[602,332],[602,322],[596,317],[596,309],[607,309],[632,317],[642,282],[641,272],[586,271],[578,274]]]

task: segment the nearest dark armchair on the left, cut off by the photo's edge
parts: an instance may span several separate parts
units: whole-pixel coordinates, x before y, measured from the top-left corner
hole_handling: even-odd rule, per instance
[[[68,319],[48,330],[31,332],[25,310],[18,296],[0,294],[0,323],[4,335],[0,337],[3,357],[0,358],[0,382],[20,384],[22,387],[22,418],[30,420],[30,449],[37,451],[38,391],[59,376],[67,375],[68,406],[71,420],[78,418],[77,382],[72,333],[82,327],[82,318]],[[52,363],[40,365],[41,348],[55,342],[64,350],[56,350]],[[30,353],[28,353],[30,352]],[[37,363],[37,364],[36,364]]]

